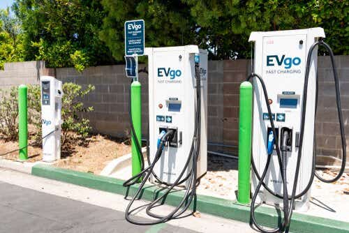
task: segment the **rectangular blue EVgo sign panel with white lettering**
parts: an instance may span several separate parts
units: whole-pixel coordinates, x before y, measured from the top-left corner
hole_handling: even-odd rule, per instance
[[[125,54],[144,55],[144,20],[125,22]]]

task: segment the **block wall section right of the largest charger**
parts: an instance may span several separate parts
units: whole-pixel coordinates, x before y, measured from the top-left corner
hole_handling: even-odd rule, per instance
[[[341,107],[347,134],[346,144],[349,145],[349,56],[336,56],[335,63],[340,81]],[[315,123],[317,153],[341,158],[341,136],[336,109],[334,75],[329,57],[318,59],[318,81],[318,111]],[[347,151],[349,151],[349,146]]]

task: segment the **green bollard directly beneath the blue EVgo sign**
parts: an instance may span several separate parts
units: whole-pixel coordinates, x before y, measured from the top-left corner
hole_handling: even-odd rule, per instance
[[[135,128],[135,135],[138,138],[140,146],[142,146],[142,87],[140,82],[133,81],[131,84],[131,114],[133,127]],[[137,150],[135,145],[135,137],[132,134],[131,137],[132,146],[132,176],[140,173],[142,169],[142,160],[140,156],[143,156]]]

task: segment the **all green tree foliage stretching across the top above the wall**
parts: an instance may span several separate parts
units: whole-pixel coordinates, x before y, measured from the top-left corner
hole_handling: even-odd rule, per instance
[[[77,70],[124,62],[124,22],[135,19],[145,21],[146,46],[195,44],[210,59],[251,57],[251,31],[309,27],[323,27],[334,53],[349,54],[346,0],[16,0],[13,10],[24,49],[14,53],[12,34],[0,32],[0,67],[15,54]]]

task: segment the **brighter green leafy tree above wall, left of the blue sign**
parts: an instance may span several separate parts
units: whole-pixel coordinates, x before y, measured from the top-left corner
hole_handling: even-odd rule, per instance
[[[77,70],[114,62],[98,37],[105,15],[100,1],[17,0],[13,9],[25,33],[25,59]]]

